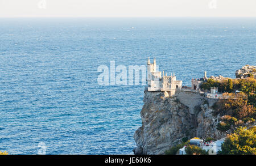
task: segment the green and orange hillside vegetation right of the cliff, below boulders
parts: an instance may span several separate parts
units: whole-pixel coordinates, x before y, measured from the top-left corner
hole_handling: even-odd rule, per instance
[[[210,87],[218,87],[218,91],[226,99],[220,99],[214,106],[214,114],[222,117],[218,124],[218,130],[226,131],[245,123],[255,122],[256,79],[249,76],[245,79],[208,79],[201,84],[201,88],[209,90]],[[240,91],[236,93],[236,91]]]

